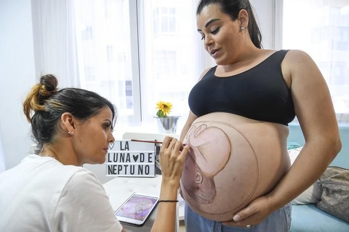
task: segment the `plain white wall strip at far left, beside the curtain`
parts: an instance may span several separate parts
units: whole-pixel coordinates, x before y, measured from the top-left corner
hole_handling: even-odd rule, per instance
[[[6,168],[32,143],[22,101],[35,83],[30,0],[0,0],[0,136]]]

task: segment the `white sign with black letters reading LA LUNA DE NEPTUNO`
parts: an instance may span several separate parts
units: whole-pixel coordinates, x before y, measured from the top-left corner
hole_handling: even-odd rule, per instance
[[[109,145],[106,176],[155,177],[155,144],[117,140]]]

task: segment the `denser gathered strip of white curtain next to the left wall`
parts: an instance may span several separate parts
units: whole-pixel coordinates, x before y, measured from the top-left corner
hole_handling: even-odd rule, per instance
[[[80,87],[73,1],[32,0],[35,73],[54,74],[59,88]]]

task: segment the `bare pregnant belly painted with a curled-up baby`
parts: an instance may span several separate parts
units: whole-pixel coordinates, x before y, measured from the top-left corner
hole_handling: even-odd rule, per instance
[[[265,158],[258,159],[258,155],[266,155],[266,147],[251,143],[254,138],[249,138],[251,132],[246,136],[244,129],[249,130],[248,126],[236,127],[227,121],[199,120],[187,133],[184,142],[191,149],[181,178],[182,196],[204,217],[231,220],[235,212],[271,188],[270,182],[259,186],[263,175],[268,178],[268,169],[270,175],[279,175],[275,170],[278,167],[272,166],[264,167],[265,173],[260,173],[258,163],[268,165]]]

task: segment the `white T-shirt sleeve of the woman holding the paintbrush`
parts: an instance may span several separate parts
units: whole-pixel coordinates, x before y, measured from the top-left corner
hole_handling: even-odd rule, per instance
[[[60,193],[55,217],[65,231],[121,231],[109,198],[97,177],[79,168]]]

